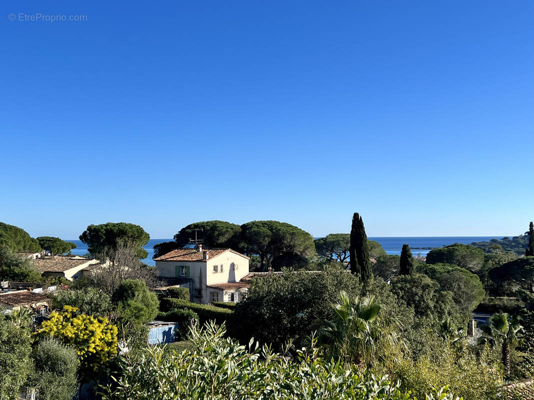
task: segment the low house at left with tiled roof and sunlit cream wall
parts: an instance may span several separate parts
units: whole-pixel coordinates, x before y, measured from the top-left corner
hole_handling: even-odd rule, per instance
[[[62,277],[73,281],[82,276],[84,269],[101,264],[101,261],[80,256],[43,255],[33,260],[33,263],[43,276]]]

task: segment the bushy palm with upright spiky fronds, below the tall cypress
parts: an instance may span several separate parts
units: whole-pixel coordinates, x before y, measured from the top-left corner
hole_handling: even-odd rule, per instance
[[[333,305],[334,320],[324,321],[319,343],[335,359],[369,364],[377,346],[397,343],[397,337],[380,320],[381,306],[374,296],[358,296],[351,303],[347,292],[340,295],[341,302]]]

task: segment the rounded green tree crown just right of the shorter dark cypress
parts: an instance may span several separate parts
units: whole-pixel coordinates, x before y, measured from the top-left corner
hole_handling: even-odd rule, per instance
[[[454,243],[431,250],[426,262],[452,264],[476,272],[484,266],[484,251],[467,244]]]

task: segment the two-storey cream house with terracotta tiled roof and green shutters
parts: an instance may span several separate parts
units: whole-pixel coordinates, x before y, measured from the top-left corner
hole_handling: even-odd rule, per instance
[[[214,301],[239,302],[249,282],[249,258],[232,249],[177,249],[156,258],[160,278],[185,278],[191,281],[192,301],[207,304]]]

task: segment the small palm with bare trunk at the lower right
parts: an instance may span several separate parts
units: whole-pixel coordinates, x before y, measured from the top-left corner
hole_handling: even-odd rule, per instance
[[[491,347],[502,346],[502,365],[504,365],[506,377],[509,377],[510,353],[524,332],[519,319],[510,317],[506,313],[493,314],[488,324],[482,325],[480,329],[482,330],[482,337],[478,339],[480,343],[488,343]]]

